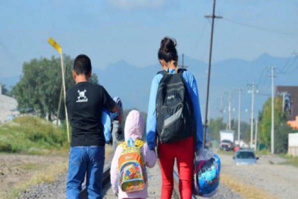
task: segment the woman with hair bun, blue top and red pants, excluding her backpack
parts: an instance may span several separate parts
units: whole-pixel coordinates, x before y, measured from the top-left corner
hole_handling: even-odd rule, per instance
[[[168,74],[177,73],[178,55],[176,50],[175,39],[165,37],[160,42],[158,50],[158,59],[162,70]],[[152,80],[149,108],[147,117],[147,142],[150,150],[156,147],[156,96],[160,80],[163,75],[158,73]],[[192,179],[193,179],[193,163],[194,151],[202,148],[203,125],[202,116],[199,105],[199,95],[197,83],[194,76],[188,71],[183,71],[182,77],[185,80],[187,91],[192,102],[193,121],[195,125],[196,143],[194,144],[194,136],[188,136],[179,141],[172,143],[158,142],[159,163],[162,175],[161,199],[170,199],[173,191],[173,169],[176,158],[177,168],[179,172],[179,192],[181,199],[191,199],[192,196]],[[187,133],[187,132],[185,132]],[[191,133],[188,133],[191,134]],[[158,138],[159,139],[159,138]]]

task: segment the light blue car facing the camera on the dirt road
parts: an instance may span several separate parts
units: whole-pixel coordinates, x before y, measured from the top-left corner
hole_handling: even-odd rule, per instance
[[[256,157],[252,150],[240,149],[233,156],[236,165],[252,165],[256,164],[259,157]]]

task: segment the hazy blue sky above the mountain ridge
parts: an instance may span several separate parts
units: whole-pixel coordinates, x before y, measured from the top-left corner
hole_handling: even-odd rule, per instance
[[[157,63],[163,36],[178,52],[208,62],[213,0],[3,0],[0,6],[0,78],[21,74],[24,61],[84,53],[93,67],[125,60]],[[289,57],[298,46],[297,0],[217,0],[213,62],[252,60],[263,53]],[[236,23],[238,22],[238,23]],[[256,28],[241,25],[252,25]],[[264,31],[260,28],[265,28]],[[277,33],[278,32],[278,33]],[[286,33],[286,34],[283,34]]]

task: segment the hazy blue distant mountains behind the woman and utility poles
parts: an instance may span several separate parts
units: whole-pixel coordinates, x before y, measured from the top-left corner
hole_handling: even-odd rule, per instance
[[[295,68],[298,65],[298,61],[294,62],[293,60],[291,59],[287,66],[292,64],[292,68]],[[233,88],[239,87],[245,89],[249,82],[259,84],[259,94],[255,97],[255,115],[257,115],[257,111],[261,110],[262,104],[271,94],[271,78],[268,76],[267,69],[263,69],[264,66],[275,65],[277,66],[277,72],[279,72],[287,61],[288,58],[273,57],[265,53],[251,61],[228,59],[213,63],[210,87],[211,117],[219,115],[216,106],[220,105],[220,97],[224,97],[224,107],[227,111],[227,96],[224,95],[225,91],[231,91]],[[204,113],[208,63],[184,56],[184,64],[195,75],[199,88],[201,109]],[[119,96],[123,100],[125,108],[138,108],[147,112],[151,81],[157,71],[160,70],[161,67],[157,60],[155,65],[144,68],[138,68],[122,60],[108,65],[105,70],[94,68],[93,73],[97,74],[99,83],[107,89],[112,97]],[[298,86],[297,76],[298,70],[290,74],[277,74],[274,79],[274,85]],[[0,83],[5,84],[7,89],[15,85],[18,81],[19,76],[0,79]],[[236,91],[232,98],[233,108],[235,109],[232,112],[232,117],[237,119],[238,94]],[[242,91],[241,109],[241,118],[248,121],[251,109],[251,95],[245,90]],[[248,111],[245,112],[245,109]],[[224,113],[225,118],[226,116],[227,112]]]

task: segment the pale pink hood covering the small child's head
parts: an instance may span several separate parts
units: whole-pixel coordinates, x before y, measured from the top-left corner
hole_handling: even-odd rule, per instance
[[[138,138],[142,139],[144,129],[145,122],[141,115],[141,112],[138,110],[130,111],[125,121],[125,141],[127,141],[129,137],[132,137],[133,140],[137,140]]]

